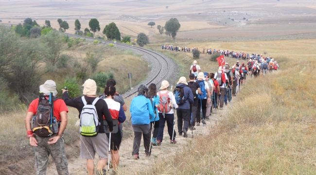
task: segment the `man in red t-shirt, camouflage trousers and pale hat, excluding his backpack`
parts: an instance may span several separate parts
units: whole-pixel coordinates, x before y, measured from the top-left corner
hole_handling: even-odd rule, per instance
[[[44,95],[49,95],[50,92],[53,92],[53,96],[57,94],[56,83],[53,80],[47,80],[43,85],[39,86],[39,90]],[[30,144],[35,146],[36,175],[46,174],[47,162],[50,155],[53,157],[58,175],[69,175],[65,146],[63,139],[60,139],[67,126],[68,108],[63,100],[55,100],[53,102],[53,115],[60,122],[59,131],[49,137],[38,137],[33,133],[30,123],[32,117],[36,115],[38,102],[38,98],[32,101],[24,120],[27,137],[30,140]]]

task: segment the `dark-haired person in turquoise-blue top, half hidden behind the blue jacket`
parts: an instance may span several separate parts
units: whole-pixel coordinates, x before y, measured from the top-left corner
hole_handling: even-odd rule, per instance
[[[149,91],[146,97],[151,101],[152,108],[155,113],[155,117],[154,118],[152,117],[150,119],[150,133],[152,132],[152,129],[154,128],[151,144],[153,146],[157,146],[156,138],[157,138],[158,130],[159,130],[159,115],[157,114],[157,107],[159,106],[159,96],[157,95],[157,87],[154,83],[150,84],[148,89]]]

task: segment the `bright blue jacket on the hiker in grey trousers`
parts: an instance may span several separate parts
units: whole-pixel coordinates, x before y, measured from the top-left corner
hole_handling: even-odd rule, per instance
[[[155,118],[155,113],[151,102],[144,95],[134,97],[129,108],[132,114],[132,124],[149,124],[151,118]]]

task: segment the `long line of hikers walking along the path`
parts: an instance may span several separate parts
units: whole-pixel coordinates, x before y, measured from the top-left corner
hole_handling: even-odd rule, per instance
[[[170,89],[166,80],[161,82],[159,89],[155,84],[140,85],[129,108],[134,131],[132,157],[140,158],[141,137],[146,157],[151,155],[153,146],[162,145],[165,125],[169,134],[167,141],[171,144],[177,143],[177,134],[187,138],[188,130],[192,131],[193,137],[195,127],[206,124],[213,112],[222,110],[232,96],[236,96],[240,85],[245,85],[248,74],[258,77],[260,73],[265,75],[267,70],[278,69],[273,58],[252,57],[247,63],[240,64],[237,60],[232,67],[226,63],[218,71],[209,73],[202,72],[194,60],[189,81],[180,77],[175,89]],[[63,139],[67,106],[79,112],[80,157],[87,160],[88,174],[94,175],[95,165],[100,174],[106,174],[106,171],[108,174],[110,168],[114,175],[117,174],[127,106],[115,86],[116,81],[108,79],[104,93],[97,97],[96,82],[88,79],[83,85],[84,96],[74,99],[69,99],[67,87],[62,89],[62,99],[57,98],[53,80],[47,80],[39,87],[40,95],[30,104],[25,117],[27,137],[35,147],[36,175],[46,174],[50,155],[58,175],[69,175]],[[96,153],[99,156],[97,164],[93,160]]]

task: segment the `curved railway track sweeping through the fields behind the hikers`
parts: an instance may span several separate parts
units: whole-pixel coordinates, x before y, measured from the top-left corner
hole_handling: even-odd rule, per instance
[[[115,43],[114,41],[108,41],[108,40],[104,40],[104,39],[92,38],[92,37],[87,37],[87,36],[82,36],[82,35],[73,35],[73,34],[66,34],[66,35],[71,36],[71,37],[76,37],[76,38],[79,38],[79,37],[85,38],[88,40],[99,40],[102,43],[116,44],[117,46],[119,46],[122,49],[136,50],[136,51],[139,51],[141,54],[148,54],[150,57],[156,59],[158,64],[153,63],[152,70],[151,70],[151,71],[153,71],[154,74],[149,75],[149,77],[143,82],[143,84],[145,84],[147,86],[150,83],[155,83],[157,85],[157,87],[159,87],[159,84],[161,83],[162,80],[168,79],[168,77],[167,77],[168,74],[175,74],[176,73],[176,72],[173,72],[173,71],[175,71],[175,69],[170,68],[170,65],[171,65],[170,62],[172,62],[171,59],[166,57],[165,55],[160,54],[160,53],[156,53],[154,51],[140,48],[137,46],[131,46],[131,45],[123,44],[123,43],[119,43],[119,42]],[[151,61],[153,61],[151,58],[149,58],[149,59]],[[134,95],[135,93],[137,93],[137,89],[127,91],[126,93],[123,94],[123,97],[128,98],[128,97]]]

